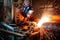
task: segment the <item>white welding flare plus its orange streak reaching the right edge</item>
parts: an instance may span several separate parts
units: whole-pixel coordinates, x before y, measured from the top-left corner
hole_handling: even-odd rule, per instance
[[[41,27],[43,23],[46,22],[60,22],[60,15],[45,15],[43,16],[37,24],[37,27]]]

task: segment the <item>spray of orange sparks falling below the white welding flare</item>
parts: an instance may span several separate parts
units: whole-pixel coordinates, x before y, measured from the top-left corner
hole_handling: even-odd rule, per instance
[[[53,30],[53,29],[52,29]],[[54,33],[52,32],[51,29],[47,28],[40,28],[40,40],[53,40],[56,39]]]

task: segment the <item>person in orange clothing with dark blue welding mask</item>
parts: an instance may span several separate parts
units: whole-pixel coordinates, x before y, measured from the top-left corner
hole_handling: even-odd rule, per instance
[[[33,10],[31,8],[30,2],[28,0],[25,0],[23,5],[18,6],[16,9],[16,12],[15,12],[16,24],[20,25],[20,23],[22,24],[23,22],[28,21],[32,13],[33,13]]]

